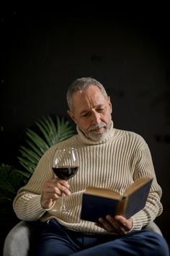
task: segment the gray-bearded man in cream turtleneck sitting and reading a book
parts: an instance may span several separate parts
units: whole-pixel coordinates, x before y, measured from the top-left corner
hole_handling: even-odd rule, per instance
[[[19,189],[14,200],[18,218],[44,223],[38,255],[169,255],[164,238],[143,229],[162,212],[161,187],[145,140],[134,132],[113,127],[112,103],[101,83],[93,78],[73,81],[67,101],[68,115],[75,121],[78,134],[42,156],[30,181]],[[68,184],[54,176],[52,161],[57,146],[70,145],[79,155],[80,166]],[[146,207],[132,218],[106,216],[98,223],[80,219],[86,187],[122,193],[140,176],[153,178],[153,183]],[[62,194],[66,195],[69,212],[57,210]]]

